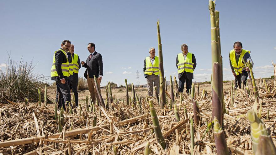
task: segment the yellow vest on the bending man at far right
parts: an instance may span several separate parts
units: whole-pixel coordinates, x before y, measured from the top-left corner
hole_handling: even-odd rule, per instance
[[[242,62],[242,58],[243,58],[244,54],[246,54],[247,52],[250,54],[250,51],[248,51],[248,50],[245,50],[245,49],[241,50],[240,58],[239,58],[239,61],[238,61],[238,64],[237,64],[235,50],[232,49],[230,51],[230,60],[231,60],[231,64],[233,66],[233,69],[235,70],[236,75],[241,74],[241,72],[243,70],[245,70],[245,65]]]

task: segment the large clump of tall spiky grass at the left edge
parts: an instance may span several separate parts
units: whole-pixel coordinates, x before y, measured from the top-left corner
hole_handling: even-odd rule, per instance
[[[36,64],[33,65],[32,61],[27,63],[20,59],[18,64],[12,61],[10,54],[8,56],[6,69],[0,70],[0,102],[19,102],[24,101],[25,97],[37,102],[38,88],[45,88],[44,76],[33,73]],[[41,96],[44,96],[43,91]]]

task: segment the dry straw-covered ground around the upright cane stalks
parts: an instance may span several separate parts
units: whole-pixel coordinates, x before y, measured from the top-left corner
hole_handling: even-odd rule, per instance
[[[250,83],[250,82],[249,82]],[[274,129],[276,121],[276,91],[273,81],[267,81],[270,92],[257,80],[262,103],[262,118],[276,144]],[[195,85],[195,99],[199,103],[200,123],[194,125],[194,154],[216,154],[212,129],[207,131],[211,122],[212,100],[209,85]],[[201,96],[202,90],[206,96]],[[224,114],[224,132],[228,148],[232,154],[252,154],[250,123],[247,111],[252,109],[255,101],[252,86],[249,84],[250,96],[247,99],[242,89],[234,92],[234,104],[231,105],[231,82],[224,83],[224,100],[228,114]],[[174,89],[175,90],[175,89]],[[193,104],[190,97],[175,97],[181,117],[175,121],[175,113],[170,109],[170,87],[167,87],[168,104],[160,109],[153,98],[161,131],[166,142],[165,150],[157,142],[153,132],[150,108],[146,102],[146,88],[135,88],[141,94],[141,110],[136,102],[134,107],[126,105],[125,88],[112,89],[114,110],[96,106],[96,112],[86,109],[88,90],[79,93],[79,105],[74,114],[64,114],[64,128],[59,132],[55,119],[55,105],[38,106],[37,103],[0,104],[0,154],[144,154],[149,142],[152,154],[190,154],[191,135],[190,117],[193,117]],[[55,98],[55,88],[48,89],[48,95]],[[101,89],[105,100],[105,89]],[[131,91],[129,92],[131,97]],[[115,99],[119,98],[116,103]],[[151,100],[151,99],[149,99]],[[42,103],[43,105],[43,103]],[[187,113],[185,112],[185,109]],[[259,109],[259,108],[258,108]],[[269,111],[269,112],[268,112]],[[59,113],[59,111],[58,111]],[[187,115],[186,115],[187,114]],[[97,125],[93,127],[93,117],[97,115]],[[15,140],[15,141],[12,141]],[[12,142],[9,142],[12,141]]]

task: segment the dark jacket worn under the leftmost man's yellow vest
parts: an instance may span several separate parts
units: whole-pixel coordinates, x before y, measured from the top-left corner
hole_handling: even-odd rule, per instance
[[[66,56],[63,54],[63,52],[61,50],[58,50],[58,51],[56,51],[55,59],[56,59],[56,72],[57,72],[58,76],[51,77],[51,80],[60,80],[63,78],[67,79],[67,77],[63,76],[62,71],[61,71],[61,64],[67,62]]]

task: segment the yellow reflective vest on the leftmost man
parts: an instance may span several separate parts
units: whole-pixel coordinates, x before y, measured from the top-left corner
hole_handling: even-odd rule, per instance
[[[64,52],[64,50],[62,50],[62,49],[59,49],[59,50],[61,50],[63,52],[63,54],[66,56],[66,59],[67,59],[67,54]],[[59,51],[59,50],[57,50],[57,51]],[[56,57],[55,57],[55,54],[57,51],[55,51],[54,57],[53,57],[53,63],[52,63],[52,68],[51,68],[51,77],[58,76],[58,74],[56,72]],[[63,76],[66,76],[66,77],[70,76],[69,66],[70,65],[69,65],[68,59],[67,59],[66,63],[61,64],[61,71],[62,71]]]

